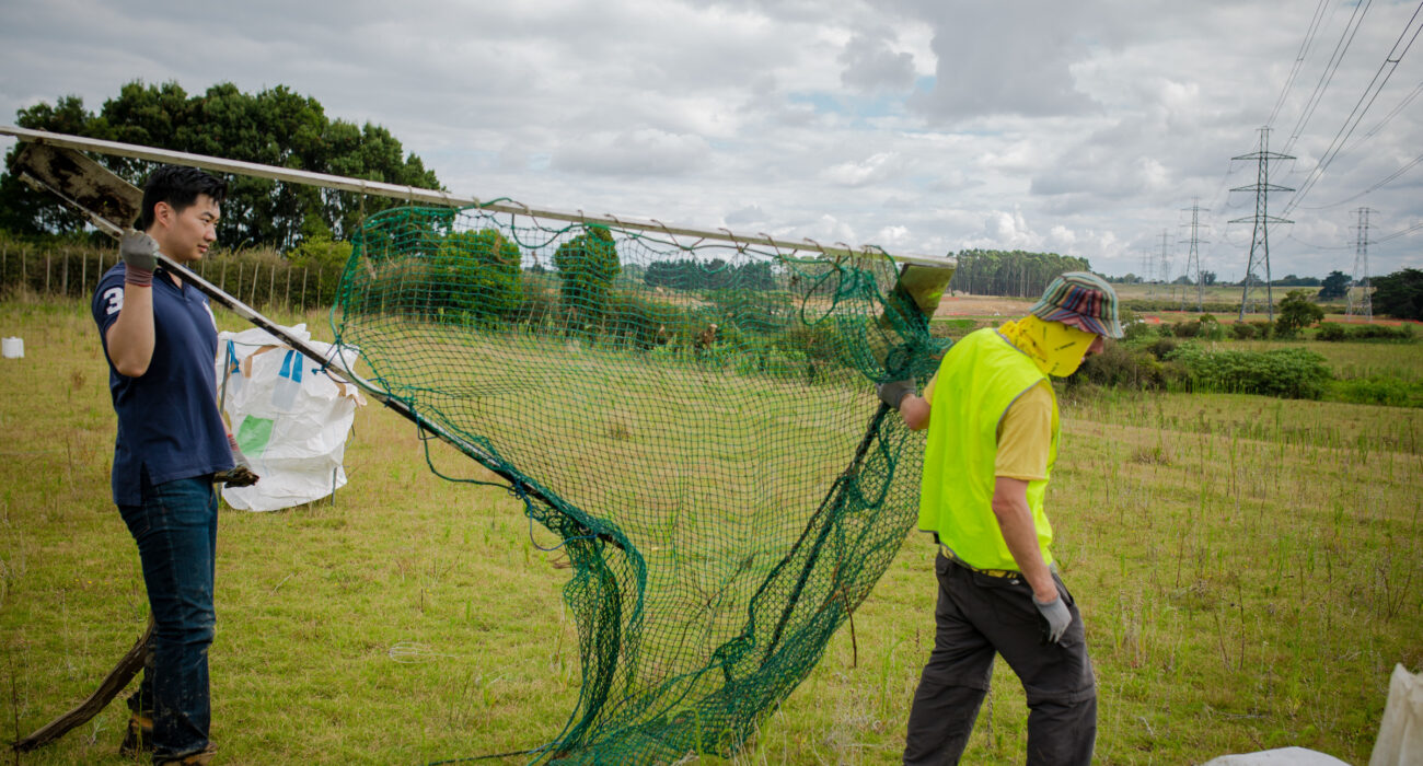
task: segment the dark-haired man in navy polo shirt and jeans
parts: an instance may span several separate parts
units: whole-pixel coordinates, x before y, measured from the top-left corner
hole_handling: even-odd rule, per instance
[[[245,466],[218,411],[218,329],[208,298],[158,268],[201,259],[216,239],[226,182],[165,165],[144,185],[142,231],[120,243],[122,262],[94,292],[118,414],[114,503],[138,542],[154,638],[121,750],[154,749],[154,763],[208,763],[213,481]],[[239,471],[240,473],[240,471]],[[250,473],[246,483],[255,481]]]

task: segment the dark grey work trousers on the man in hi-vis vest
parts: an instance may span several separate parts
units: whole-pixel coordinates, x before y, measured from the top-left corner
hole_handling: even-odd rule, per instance
[[[1097,740],[1097,685],[1081,615],[1057,572],[1057,592],[1072,612],[1060,644],[1043,638],[1047,621],[1023,578],[975,572],[939,554],[933,651],[909,709],[906,765],[958,763],[1003,655],[1027,692],[1029,766],[1086,765]]]

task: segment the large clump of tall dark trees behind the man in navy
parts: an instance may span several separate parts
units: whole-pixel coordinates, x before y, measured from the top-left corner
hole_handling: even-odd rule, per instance
[[[367,122],[330,120],[314,98],[285,85],[246,94],[221,83],[188,95],[176,83],[145,85],[134,81],[98,112],[67,95],[54,104],[20,110],[24,128],[84,135],[125,144],[205,154],[367,181],[438,189],[440,181],[421,159],[406,154],[388,130]],[[18,147],[11,149],[11,157]],[[10,167],[11,157],[6,157]],[[125,157],[100,161],[135,185],[151,162]],[[270,246],[289,251],[313,236],[344,239],[363,215],[398,201],[320,189],[238,175],[229,179],[228,199],[218,224],[225,246]],[[127,224],[127,222],[125,222]],[[0,177],[0,228],[21,236],[67,234],[84,222],[50,195],[36,192],[13,174]]]

